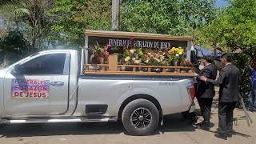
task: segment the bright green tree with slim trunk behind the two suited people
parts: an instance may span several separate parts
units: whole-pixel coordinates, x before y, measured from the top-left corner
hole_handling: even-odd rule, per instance
[[[217,46],[226,47],[226,52],[242,50],[242,53],[234,54],[234,63],[241,70],[243,98],[247,98],[250,93],[248,65],[252,58],[256,58],[255,7],[254,0],[230,1],[230,6],[204,26],[197,38],[199,44],[216,42]]]

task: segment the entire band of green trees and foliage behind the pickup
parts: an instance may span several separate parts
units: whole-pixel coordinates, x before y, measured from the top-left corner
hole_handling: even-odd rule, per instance
[[[122,0],[120,30],[191,35],[195,43],[235,54],[242,73],[242,96],[250,89],[250,60],[256,58],[256,1]],[[83,31],[111,30],[110,0],[2,0],[2,67],[39,50],[84,45]]]

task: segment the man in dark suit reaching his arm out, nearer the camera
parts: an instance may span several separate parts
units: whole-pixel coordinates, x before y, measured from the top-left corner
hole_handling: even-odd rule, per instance
[[[223,54],[222,66],[217,80],[201,76],[204,82],[210,82],[220,86],[218,103],[218,131],[215,137],[227,139],[232,137],[233,114],[236,103],[239,99],[239,70],[231,64],[231,54]]]

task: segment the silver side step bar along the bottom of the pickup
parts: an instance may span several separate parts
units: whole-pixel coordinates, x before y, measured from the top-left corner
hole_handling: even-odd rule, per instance
[[[69,122],[117,122],[117,117],[110,118],[28,118],[28,119],[0,119],[2,124],[14,123],[69,123]]]

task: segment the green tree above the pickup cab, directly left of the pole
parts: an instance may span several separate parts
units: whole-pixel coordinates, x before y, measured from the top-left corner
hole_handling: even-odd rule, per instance
[[[84,30],[111,29],[111,1],[54,0],[47,14],[52,22],[50,39],[70,44],[84,45]]]

